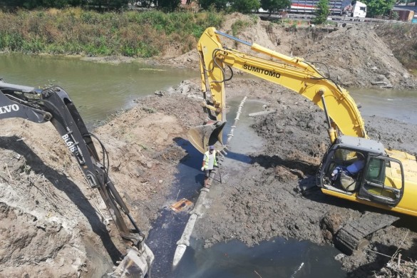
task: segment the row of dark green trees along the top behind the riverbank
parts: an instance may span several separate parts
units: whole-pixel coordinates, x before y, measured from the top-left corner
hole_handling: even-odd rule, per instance
[[[354,3],[356,0],[353,0]],[[402,0],[408,1],[408,0]],[[143,6],[155,6],[163,11],[175,11],[179,8],[181,0],[143,0],[139,1]],[[187,4],[197,2],[202,10],[215,9],[217,11],[250,14],[262,8],[269,13],[287,9],[291,0],[187,0]],[[396,0],[361,0],[367,5],[369,16],[382,16],[391,11]],[[129,4],[136,4],[134,0],[0,0],[0,6],[4,10],[16,9],[63,9],[66,7],[82,7],[97,9],[99,11],[120,10]],[[329,0],[320,0],[317,5],[321,17],[326,17],[326,6]]]

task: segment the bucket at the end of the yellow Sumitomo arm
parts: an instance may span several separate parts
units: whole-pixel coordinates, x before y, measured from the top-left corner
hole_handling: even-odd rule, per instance
[[[191,128],[188,132],[188,140],[190,143],[200,151],[205,153],[209,145],[216,145],[219,143],[223,145],[222,130],[226,122],[209,121],[205,125],[198,125]]]

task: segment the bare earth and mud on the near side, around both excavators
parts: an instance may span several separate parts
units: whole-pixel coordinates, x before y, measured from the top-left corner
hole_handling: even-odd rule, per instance
[[[322,225],[324,217],[343,215],[339,218],[346,220],[346,215],[371,210],[315,189],[313,176],[328,142],[319,108],[278,86],[246,78],[233,79],[227,92],[228,98],[244,92],[278,112],[257,118],[253,126],[266,142],[250,154],[253,163],[238,173],[222,169],[227,180],[210,190],[216,210],[207,210],[195,230],[205,247],[231,239],[252,245],[276,236],[331,243],[331,229]],[[197,81],[157,93],[138,100],[138,106],[95,131],[110,155],[110,177],[145,232],[158,210],[170,205],[165,196],[177,163],[187,156],[177,140],[204,118]],[[371,137],[380,138],[386,146],[416,152],[412,143],[417,140],[417,126],[378,117],[365,120]],[[108,272],[120,259],[123,244],[108,222],[100,197],[89,189],[53,127],[9,120],[1,125],[1,133],[5,136],[0,150],[1,229],[7,232],[1,233],[6,248],[0,275],[100,277]],[[46,142],[45,137],[50,140]],[[366,249],[393,254],[401,246],[403,258],[415,259],[414,231],[404,217],[372,235]],[[35,248],[22,238],[36,246],[47,240],[50,249]],[[27,257],[28,250],[36,259]],[[73,259],[73,252],[80,255]],[[364,250],[341,259],[352,277],[365,277],[386,261]]]

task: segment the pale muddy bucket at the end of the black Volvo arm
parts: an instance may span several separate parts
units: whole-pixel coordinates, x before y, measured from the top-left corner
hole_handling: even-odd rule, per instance
[[[128,254],[126,254],[118,267],[116,267],[115,271],[110,274],[110,277],[143,278],[145,274],[151,277],[149,271],[154,258],[153,252],[146,244],[143,244],[140,250],[129,249]]]

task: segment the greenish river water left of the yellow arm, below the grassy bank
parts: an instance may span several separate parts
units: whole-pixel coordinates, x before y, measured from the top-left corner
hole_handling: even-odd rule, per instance
[[[103,123],[133,100],[197,77],[190,69],[143,63],[94,63],[64,56],[0,55],[0,78],[6,83],[43,87],[61,86],[84,122]]]

